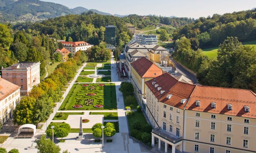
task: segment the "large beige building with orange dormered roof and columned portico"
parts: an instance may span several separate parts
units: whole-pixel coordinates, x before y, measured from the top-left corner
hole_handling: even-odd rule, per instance
[[[168,73],[146,82],[146,114],[154,140],[172,153],[256,152],[256,94],[191,85]]]

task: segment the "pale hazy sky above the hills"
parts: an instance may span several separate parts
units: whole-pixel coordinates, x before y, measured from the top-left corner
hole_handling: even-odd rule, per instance
[[[85,7],[111,14],[207,17],[256,7],[256,0],[42,0],[63,4],[71,9]]]

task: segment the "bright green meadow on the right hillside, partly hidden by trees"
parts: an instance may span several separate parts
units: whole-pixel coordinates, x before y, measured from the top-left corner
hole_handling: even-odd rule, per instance
[[[254,47],[254,51],[256,51],[256,40],[249,41],[249,42],[243,42],[242,44]],[[209,57],[210,59],[216,59],[217,52],[218,52],[218,47],[203,49],[203,54],[206,55],[207,57]]]

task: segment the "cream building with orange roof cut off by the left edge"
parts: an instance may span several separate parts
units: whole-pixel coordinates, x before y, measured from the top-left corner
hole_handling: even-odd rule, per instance
[[[3,124],[13,116],[13,110],[20,102],[20,87],[0,78],[0,122]]]

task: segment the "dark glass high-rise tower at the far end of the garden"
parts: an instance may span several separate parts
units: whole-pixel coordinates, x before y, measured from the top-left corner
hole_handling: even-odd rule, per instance
[[[107,46],[116,46],[116,26],[106,26],[105,42]]]

